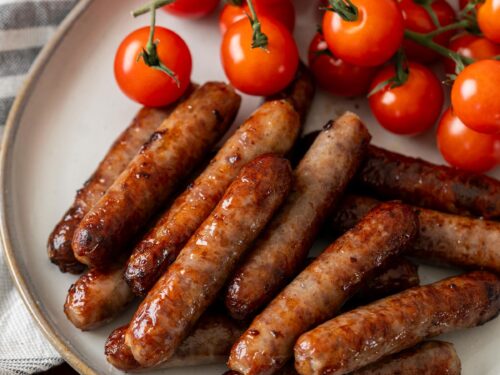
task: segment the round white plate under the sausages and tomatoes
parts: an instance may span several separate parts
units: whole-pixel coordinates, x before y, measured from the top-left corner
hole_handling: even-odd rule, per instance
[[[63,314],[66,292],[75,276],[60,273],[46,255],[46,240],[73,201],[74,193],[94,170],[116,135],[128,125],[138,105],[117,88],[112,71],[115,50],[130,31],[147,24],[132,19],[134,0],[80,1],[61,32],[45,48],[14,105],[4,140],[2,166],[3,241],[16,284],[36,320],[66,360],[82,373],[119,373],[105,360],[103,345],[118,321],[82,333]],[[318,22],[312,1],[296,2],[297,37],[305,52]],[[193,80],[224,80],[219,63],[220,35],[216,16],[201,21],[158,14],[158,24],[176,30],[194,58]],[[245,97],[238,121],[257,106]],[[319,128],[344,110],[359,113],[375,144],[443,163],[432,131],[403,138],[376,125],[364,100],[341,100],[318,93],[306,130]],[[237,122],[238,122],[237,121]],[[497,178],[500,171],[493,173]],[[318,249],[317,249],[318,250]],[[425,268],[430,282],[450,271]],[[483,327],[448,335],[456,344],[465,375],[498,375],[500,319]],[[223,365],[165,371],[168,374],[221,374]]]

